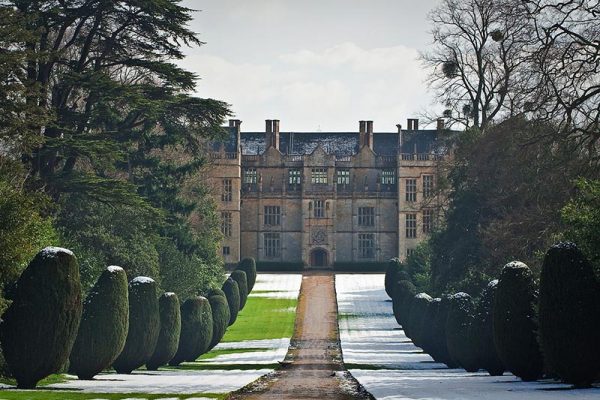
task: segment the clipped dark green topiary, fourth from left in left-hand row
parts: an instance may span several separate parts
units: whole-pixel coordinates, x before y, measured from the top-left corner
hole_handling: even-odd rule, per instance
[[[168,363],[177,353],[181,334],[181,311],[179,298],[173,292],[163,293],[158,299],[160,312],[160,332],[154,354],[146,363],[146,368],[153,371]]]

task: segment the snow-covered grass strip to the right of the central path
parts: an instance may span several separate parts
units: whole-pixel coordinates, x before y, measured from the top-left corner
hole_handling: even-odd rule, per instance
[[[600,388],[573,390],[554,381],[522,382],[510,374],[492,377],[435,363],[396,323],[383,274],[336,275],[336,292],[344,362],[377,399],[600,398]]]

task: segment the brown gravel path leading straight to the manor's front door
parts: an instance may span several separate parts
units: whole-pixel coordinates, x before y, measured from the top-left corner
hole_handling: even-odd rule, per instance
[[[339,343],[334,274],[305,272],[282,368],[229,399],[373,399],[346,371]]]

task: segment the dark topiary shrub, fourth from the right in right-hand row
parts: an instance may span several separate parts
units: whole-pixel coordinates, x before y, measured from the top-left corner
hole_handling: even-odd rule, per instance
[[[477,351],[469,333],[475,314],[475,304],[467,293],[450,296],[450,308],[446,319],[446,344],[450,357],[467,372],[479,370]]]

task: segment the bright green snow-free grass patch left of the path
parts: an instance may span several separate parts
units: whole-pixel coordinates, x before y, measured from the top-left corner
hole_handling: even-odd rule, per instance
[[[223,342],[292,337],[297,299],[249,297]]]

